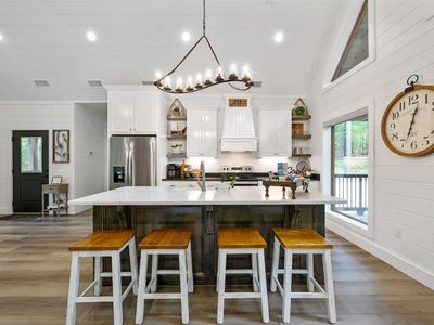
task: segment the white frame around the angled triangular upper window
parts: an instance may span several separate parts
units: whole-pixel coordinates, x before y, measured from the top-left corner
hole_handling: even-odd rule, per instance
[[[361,11],[367,3],[368,8],[368,57],[362,62],[354,66],[352,69],[347,70],[345,74],[336,78],[332,81],[335,70],[337,69],[339,64],[341,63],[342,57],[344,57],[344,52],[347,50],[348,41],[353,36],[355,27],[359,21]],[[327,68],[326,81],[322,86],[322,93],[326,93],[330,89],[340,84],[342,81],[346,80],[350,76],[359,73],[361,69],[370,65],[375,60],[375,0],[363,0],[361,4],[357,9],[353,9],[353,13],[348,14],[348,17],[344,22],[344,27],[354,24],[352,29],[342,28],[339,32],[339,38],[334,43],[334,51],[332,52],[331,60],[329,61],[329,66]]]

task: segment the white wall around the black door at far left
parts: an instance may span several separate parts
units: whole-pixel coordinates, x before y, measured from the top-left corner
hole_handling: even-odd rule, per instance
[[[71,183],[74,197],[74,132],[73,104],[62,102],[0,102],[0,214],[12,213],[12,130],[49,131],[49,169],[51,176],[63,176]],[[53,164],[52,130],[71,130],[71,162]],[[72,210],[74,212],[74,209]]]

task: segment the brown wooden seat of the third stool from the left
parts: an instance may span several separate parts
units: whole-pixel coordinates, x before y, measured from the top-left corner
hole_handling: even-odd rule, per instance
[[[267,243],[255,227],[225,227],[217,232],[218,248],[266,248]]]

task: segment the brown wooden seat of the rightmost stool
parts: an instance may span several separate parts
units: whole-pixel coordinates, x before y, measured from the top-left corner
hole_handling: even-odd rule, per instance
[[[332,249],[333,244],[310,229],[275,227],[272,233],[286,249]]]

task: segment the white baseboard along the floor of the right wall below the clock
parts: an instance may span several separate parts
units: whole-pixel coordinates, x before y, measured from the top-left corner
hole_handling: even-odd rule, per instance
[[[331,220],[330,218],[327,220],[327,227],[346,240],[357,245],[361,249],[368,251],[380,260],[399,270],[404,274],[434,290],[434,273],[430,270],[416,264],[414,262],[397,255],[394,251],[379,246],[370,238],[346,229],[344,225]]]

